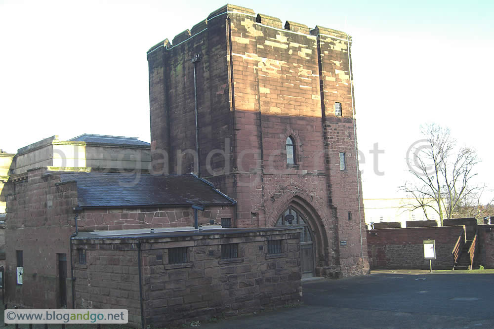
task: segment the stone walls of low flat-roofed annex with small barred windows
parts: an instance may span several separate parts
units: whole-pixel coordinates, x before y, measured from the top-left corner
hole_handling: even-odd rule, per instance
[[[76,265],[79,307],[127,308],[129,324],[139,326],[139,244],[146,326],[180,325],[298,302],[299,232],[223,229],[140,240],[77,238],[74,257],[84,248],[87,261]],[[268,255],[268,240],[281,240],[282,253]],[[222,259],[221,244],[238,244],[238,257]],[[187,247],[186,263],[168,263],[168,248],[173,247]]]

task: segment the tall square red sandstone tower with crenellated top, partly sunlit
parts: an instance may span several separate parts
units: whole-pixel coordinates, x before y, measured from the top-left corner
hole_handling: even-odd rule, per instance
[[[303,276],[369,271],[350,46],[227,4],[147,53],[154,171],[213,182],[232,226],[293,218]]]

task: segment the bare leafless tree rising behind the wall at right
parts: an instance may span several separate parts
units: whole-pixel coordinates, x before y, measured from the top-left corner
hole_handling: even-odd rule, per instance
[[[452,218],[453,212],[464,198],[479,191],[471,185],[477,175],[475,165],[479,163],[475,150],[458,147],[450,129],[437,124],[421,127],[424,139],[415,142],[408,150],[407,163],[413,179],[400,189],[412,195],[415,208],[422,208],[443,219]],[[432,202],[431,202],[432,201]]]

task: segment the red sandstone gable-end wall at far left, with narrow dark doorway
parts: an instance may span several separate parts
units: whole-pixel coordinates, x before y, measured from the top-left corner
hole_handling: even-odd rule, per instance
[[[7,200],[6,302],[29,308],[59,308],[57,253],[69,252],[77,205],[75,182],[60,183],[57,175],[44,176],[44,169],[27,172],[25,179],[9,181],[15,195]],[[16,250],[23,250],[23,285],[16,284]],[[67,258],[68,260],[69,258]],[[70,277],[70,263],[67,273]],[[71,305],[71,282],[67,280]]]

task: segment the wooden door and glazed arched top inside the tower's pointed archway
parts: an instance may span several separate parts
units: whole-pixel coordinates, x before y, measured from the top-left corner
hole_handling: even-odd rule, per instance
[[[283,212],[278,220],[276,221],[275,226],[290,226],[288,221],[285,220],[285,217],[291,214],[294,219],[292,222],[293,227],[301,227],[303,228],[300,233],[300,264],[302,267],[302,278],[310,278],[314,276],[314,239],[312,237],[312,233],[310,227],[307,225],[306,219],[302,216],[300,211],[297,211],[293,207],[288,207],[285,212]]]

